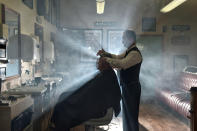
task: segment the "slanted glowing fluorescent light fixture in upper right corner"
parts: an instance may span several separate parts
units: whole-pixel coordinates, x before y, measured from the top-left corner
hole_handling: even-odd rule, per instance
[[[178,7],[179,5],[181,5],[182,3],[186,2],[186,1],[187,0],[173,0],[168,5],[163,7],[160,11],[162,13],[170,12],[171,10],[173,10],[174,8]]]

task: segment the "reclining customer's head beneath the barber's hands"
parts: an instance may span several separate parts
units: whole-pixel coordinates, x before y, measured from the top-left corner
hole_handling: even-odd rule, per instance
[[[97,60],[97,68],[98,68],[101,72],[104,71],[104,70],[112,69],[111,66],[109,65],[109,63],[107,63],[103,57],[100,57],[100,58]]]

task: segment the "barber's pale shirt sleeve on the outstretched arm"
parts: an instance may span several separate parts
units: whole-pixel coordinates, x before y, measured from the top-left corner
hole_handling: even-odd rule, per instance
[[[130,68],[142,61],[142,57],[137,51],[131,51],[129,54],[124,58],[117,58],[117,57],[112,57],[108,58],[105,57],[106,61],[113,67],[113,68],[118,68],[118,69],[127,69]]]

